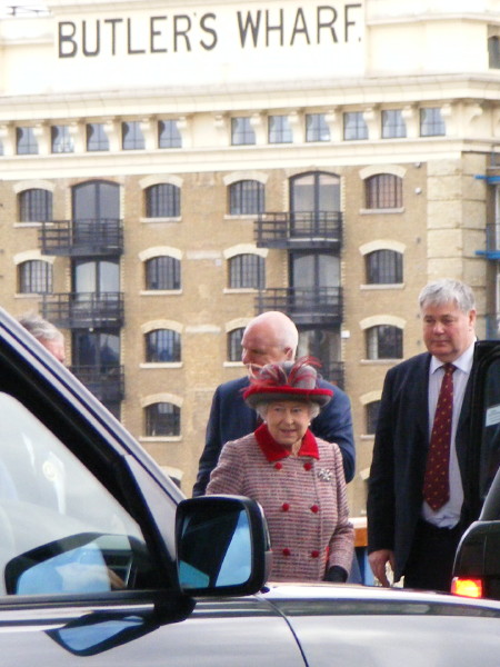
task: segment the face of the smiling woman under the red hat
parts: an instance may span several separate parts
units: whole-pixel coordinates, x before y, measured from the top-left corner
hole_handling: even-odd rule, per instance
[[[291,449],[302,440],[311,421],[311,409],[300,400],[273,401],[268,406],[266,421],[274,440]]]

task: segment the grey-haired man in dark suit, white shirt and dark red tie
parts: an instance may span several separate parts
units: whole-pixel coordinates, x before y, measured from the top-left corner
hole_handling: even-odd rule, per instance
[[[389,586],[450,590],[454,551],[471,520],[464,502],[470,382],[476,341],[473,293],[458,280],[430,282],[419,296],[428,352],[391,368],[380,402],[368,491],[368,550],[374,576]],[[449,459],[443,499],[430,492],[428,452],[446,367],[452,376]]]

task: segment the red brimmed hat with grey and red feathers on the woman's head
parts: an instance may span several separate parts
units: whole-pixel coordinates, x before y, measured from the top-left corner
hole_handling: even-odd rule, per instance
[[[331,400],[333,391],[317,388],[318,374],[313,366],[320,364],[312,357],[302,357],[296,362],[267,364],[250,378],[243,398],[251,408],[273,400],[310,400],[323,407]]]

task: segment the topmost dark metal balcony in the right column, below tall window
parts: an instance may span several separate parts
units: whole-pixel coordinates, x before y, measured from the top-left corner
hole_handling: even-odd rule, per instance
[[[253,236],[259,248],[340,250],[342,213],[260,213],[254,223]]]

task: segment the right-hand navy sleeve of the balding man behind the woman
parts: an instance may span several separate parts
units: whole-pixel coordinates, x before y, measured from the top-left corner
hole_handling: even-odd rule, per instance
[[[328,382],[320,387],[331,388],[333,398],[324,406],[321,412],[311,424],[311,430],[317,438],[327,442],[336,442],[340,447],[343,462],[343,474],[349,482],[354,477],[356,447],[352,431],[351,402],[348,396],[338,387]]]

